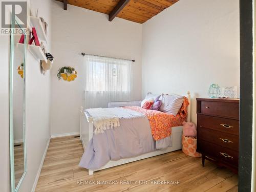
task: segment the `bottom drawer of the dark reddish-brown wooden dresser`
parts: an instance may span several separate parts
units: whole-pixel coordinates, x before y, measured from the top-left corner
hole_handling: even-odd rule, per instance
[[[238,167],[238,152],[203,140],[200,141],[200,148],[206,156]]]

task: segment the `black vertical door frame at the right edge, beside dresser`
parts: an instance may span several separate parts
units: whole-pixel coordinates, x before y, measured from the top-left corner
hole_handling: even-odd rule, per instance
[[[253,112],[253,0],[240,0],[239,191],[251,191]]]

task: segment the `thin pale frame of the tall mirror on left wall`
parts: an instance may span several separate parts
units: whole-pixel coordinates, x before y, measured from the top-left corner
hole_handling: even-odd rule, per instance
[[[14,68],[14,49],[15,49],[15,25],[16,19],[15,17],[11,17],[11,41],[10,41],[10,74],[9,74],[9,130],[10,130],[10,175],[11,175],[11,191],[17,192],[20,185],[22,184],[26,173],[27,173],[27,154],[26,154],[26,58],[27,58],[27,34],[25,33],[25,30],[23,28],[20,28],[19,30],[22,30],[22,33],[25,35],[24,40],[24,55],[23,55],[23,62],[24,62],[24,78],[23,78],[23,84],[24,84],[24,91],[23,91],[23,147],[24,147],[24,173],[22,177],[20,178],[17,186],[15,187],[15,172],[14,172],[14,133],[13,133],[13,68]]]

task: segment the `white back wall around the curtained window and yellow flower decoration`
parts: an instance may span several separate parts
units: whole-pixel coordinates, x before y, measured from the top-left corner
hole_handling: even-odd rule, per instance
[[[142,26],[124,19],[108,21],[108,15],[53,2],[51,70],[51,135],[79,131],[79,109],[83,94],[83,57],[81,52],[135,59],[134,99],[141,99]],[[78,72],[75,81],[58,80],[59,68],[72,66]]]

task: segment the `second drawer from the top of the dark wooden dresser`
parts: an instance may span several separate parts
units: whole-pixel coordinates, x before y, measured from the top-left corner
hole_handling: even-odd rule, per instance
[[[238,120],[198,114],[197,126],[239,136]]]

